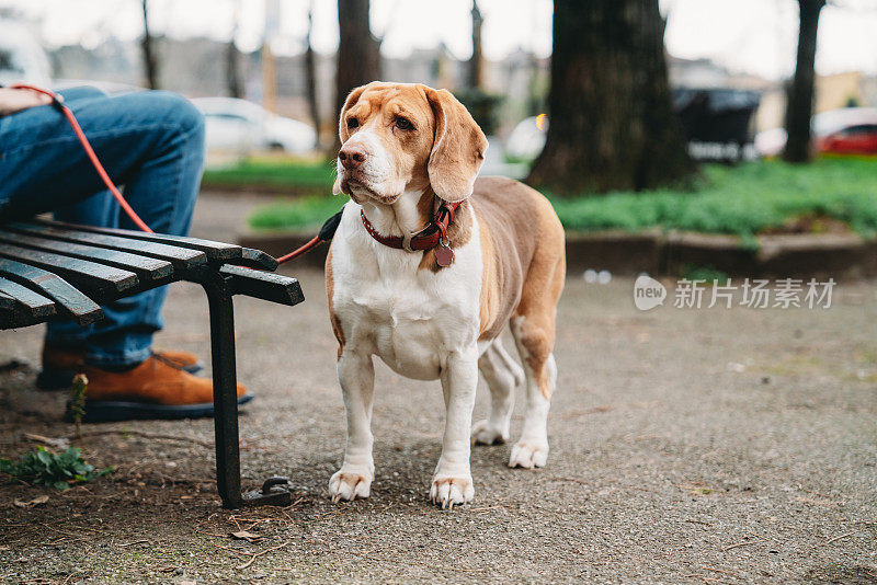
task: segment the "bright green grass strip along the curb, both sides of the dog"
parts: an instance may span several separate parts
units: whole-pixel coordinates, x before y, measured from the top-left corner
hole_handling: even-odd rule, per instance
[[[779,161],[708,164],[688,191],[548,196],[570,231],[659,228],[727,233],[747,240],[796,218],[817,217],[843,221],[864,237],[877,233],[874,159],[821,159],[809,165]],[[257,209],[250,226],[258,230],[314,228],[343,202],[320,196],[277,200]]]

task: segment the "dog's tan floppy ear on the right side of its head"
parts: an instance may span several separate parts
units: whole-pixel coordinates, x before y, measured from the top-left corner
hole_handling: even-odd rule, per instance
[[[435,113],[435,139],[426,169],[430,184],[442,199],[462,202],[472,194],[475,177],[485,162],[487,138],[451,92],[424,90]]]

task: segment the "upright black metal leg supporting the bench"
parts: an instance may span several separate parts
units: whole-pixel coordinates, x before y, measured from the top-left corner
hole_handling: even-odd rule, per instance
[[[216,485],[223,507],[243,504],[240,493],[240,445],[235,363],[235,308],[225,280],[204,285],[210,308],[214,425],[216,428]]]

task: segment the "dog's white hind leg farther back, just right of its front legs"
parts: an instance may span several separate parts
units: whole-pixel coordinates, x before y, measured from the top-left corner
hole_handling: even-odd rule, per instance
[[[472,425],[472,438],[476,445],[500,445],[509,440],[514,392],[524,383],[524,370],[499,339],[478,358],[478,369],[490,389],[490,416]]]

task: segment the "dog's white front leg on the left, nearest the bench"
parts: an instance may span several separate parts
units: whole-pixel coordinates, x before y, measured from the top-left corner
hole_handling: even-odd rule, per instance
[[[338,360],[338,380],[348,413],[348,441],[344,463],[329,480],[332,502],[368,497],[375,463],[372,459],[372,397],[375,367],[371,355],[344,349]]]

